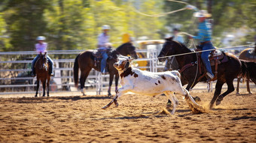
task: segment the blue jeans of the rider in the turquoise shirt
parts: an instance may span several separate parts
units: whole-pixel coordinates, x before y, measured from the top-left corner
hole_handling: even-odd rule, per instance
[[[203,47],[203,50],[215,49],[215,47],[212,46],[212,43],[205,43],[205,44],[201,45],[201,47]],[[211,68],[211,64],[210,64],[210,61],[209,61],[210,52],[212,52],[212,51],[202,52],[201,58],[202,58],[203,64],[205,64],[205,66],[206,66],[207,72],[211,73],[212,76],[214,76],[213,73],[212,73],[212,68]]]

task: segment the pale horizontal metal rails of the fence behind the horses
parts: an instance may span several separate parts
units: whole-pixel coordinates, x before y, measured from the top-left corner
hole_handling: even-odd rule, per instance
[[[245,49],[245,48],[249,48],[248,46],[245,47],[241,47],[239,46],[239,50]],[[236,48],[233,48],[236,49]],[[77,55],[80,52],[83,52],[84,50],[54,50],[54,51],[48,51],[47,53],[49,55]],[[146,68],[148,70],[150,70],[151,72],[157,72],[160,71],[161,69],[163,69],[163,63],[160,63],[157,60],[157,51],[156,50],[147,50],[147,49],[138,49],[136,50],[136,52],[143,52],[145,53],[145,55],[148,55],[147,58],[139,58],[136,59],[134,61],[148,61],[148,66],[146,67],[136,67],[136,68]],[[13,55],[13,56],[17,56],[17,55],[36,55],[37,53],[35,51],[25,51],[25,52],[0,52],[0,56],[9,56],[9,55]],[[55,63],[73,63],[75,61],[75,58],[67,58],[67,59],[53,59],[53,62]],[[2,64],[28,64],[28,63],[32,63],[32,60],[19,60],[19,61],[0,61],[0,67],[2,67]],[[55,71],[67,71],[67,72],[72,72],[73,67],[59,67],[59,68],[54,68],[53,70]],[[30,69],[2,69],[0,68],[0,76],[2,75],[2,73],[8,73],[8,72],[29,72],[31,71]],[[100,76],[100,77],[99,77]],[[108,88],[108,75],[104,75],[102,76],[101,74],[99,74],[98,72],[96,72],[95,70],[91,70],[90,72],[90,76],[88,76],[88,79],[93,79],[96,82],[94,83],[86,83],[88,86],[91,85],[93,87],[93,89],[88,89],[87,91],[97,91],[102,93],[102,91],[105,88]],[[73,76],[56,76],[53,77],[53,79],[73,79]],[[107,79],[106,81],[103,81],[104,79]],[[0,84],[2,82],[6,82],[6,81],[14,81],[14,80],[34,80],[34,77],[0,77]],[[74,83],[73,81],[70,81],[69,83],[57,83],[56,85],[64,87],[64,86],[69,86],[69,87],[73,87]],[[28,87],[35,87],[35,83],[32,84],[27,84],[27,85],[0,85],[0,90],[1,88],[28,88]],[[112,86],[112,88],[114,88],[114,86]],[[201,88],[194,88],[194,90],[197,89],[201,89]],[[10,90],[10,89],[9,89]],[[114,91],[114,90],[112,90]],[[61,91],[56,91],[56,92],[61,92]],[[15,91],[4,91],[1,92],[0,94],[20,94],[21,92],[15,92]],[[23,94],[29,94],[29,93],[34,93],[34,91],[23,91]]]

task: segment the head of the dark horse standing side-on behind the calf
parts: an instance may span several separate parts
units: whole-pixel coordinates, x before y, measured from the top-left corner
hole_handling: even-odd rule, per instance
[[[122,55],[131,55],[133,58],[138,58],[136,53],[136,47],[133,46],[133,43],[123,43],[121,46],[117,48],[117,51]]]

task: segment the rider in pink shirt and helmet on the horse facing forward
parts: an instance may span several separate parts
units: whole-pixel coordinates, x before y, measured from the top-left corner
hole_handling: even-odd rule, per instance
[[[44,36],[38,36],[36,38],[36,40],[38,41],[38,43],[35,44],[35,50],[36,52],[38,52],[38,55],[36,55],[36,57],[33,59],[32,61],[32,76],[35,76],[35,62],[38,61],[38,58],[40,57],[41,53],[46,54],[47,52],[47,43],[44,42],[45,37]],[[47,60],[49,62],[49,74],[50,76],[54,76],[53,73],[53,60],[47,55]]]

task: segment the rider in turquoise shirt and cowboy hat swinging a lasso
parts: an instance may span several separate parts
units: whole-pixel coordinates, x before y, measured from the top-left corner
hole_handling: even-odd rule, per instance
[[[212,39],[211,23],[208,21],[208,19],[206,19],[212,16],[212,14],[207,13],[206,10],[198,10],[197,7],[189,7],[189,8],[196,10],[196,12],[194,13],[194,16],[198,17],[199,19],[198,34],[197,36],[193,36],[190,38],[200,40],[200,48],[202,48],[203,51],[209,50],[209,49],[215,49],[215,47],[212,46],[212,42],[211,42],[211,39]],[[201,54],[203,64],[205,64],[206,66],[206,70],[207,70],[206,76],[208,76],[208,81],[214,78],[214,74],[212,73],[212,68],[209,61],[209,54],[211,52],[212,51],[206,51],[206,52],[202,52]]]

